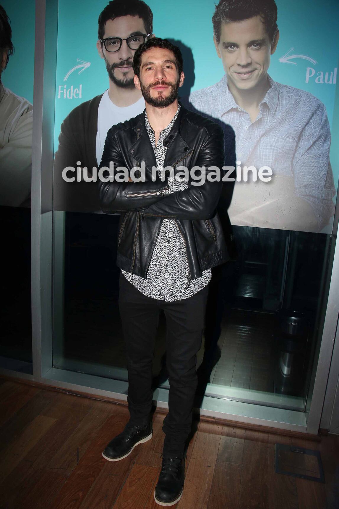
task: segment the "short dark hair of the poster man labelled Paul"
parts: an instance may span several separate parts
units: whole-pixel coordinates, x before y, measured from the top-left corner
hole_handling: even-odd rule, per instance
[[[265,25],[267,35],[273,42],[278,25],[278,10],[274,0],[220,0],[212,17],[213,32],[217,43],[220,43],[221,25],[230,21],[260,16]]]

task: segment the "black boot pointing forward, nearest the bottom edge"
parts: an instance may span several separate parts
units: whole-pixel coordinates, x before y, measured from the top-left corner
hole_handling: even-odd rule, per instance
[[[180,500],[185,479],[185,461],[183,458],[163,457],[163,465],[154,499],[159,505],[174,505]]]

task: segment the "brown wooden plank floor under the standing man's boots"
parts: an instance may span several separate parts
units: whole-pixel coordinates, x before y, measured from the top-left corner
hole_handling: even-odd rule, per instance
[[[2,509],[159,508],[164,414],[125,460],[102,457],[128,420],[124,406],[0,379]],[[339,507],[339,437],[310,442],[194,422],[178,509]],[[326,484],[274,472],[275,442],[318,449]]]

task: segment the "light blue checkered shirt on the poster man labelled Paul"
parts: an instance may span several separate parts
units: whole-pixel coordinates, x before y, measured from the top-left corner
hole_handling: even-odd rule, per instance
[[[294,193],[308,202],[321,230],[334,213],[335,195],[329,162],[331,142],[326,108],[309,92],[276,83],[251,124],[250,115],[235,102],[227,75],[214,85],[193,92],[181,102],[235,132],[241,166],[269,166],[273,176],[293,177]]]

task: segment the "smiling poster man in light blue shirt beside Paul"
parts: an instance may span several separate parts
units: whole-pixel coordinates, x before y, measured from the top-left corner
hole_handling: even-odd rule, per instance
[[[329,123],[316,97],[268,75],[276,21],[274,0],[220,0],[212,23],[225,75],[184,104],[233,127],[240,167],[272,170],[270,182],[235,183],[232,224],[319,232],[334,213]]]

